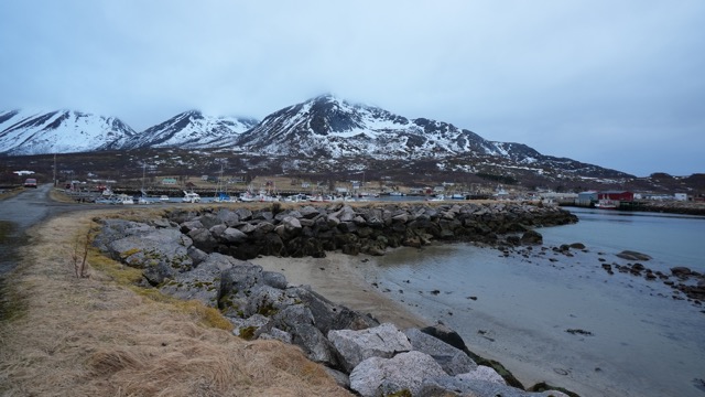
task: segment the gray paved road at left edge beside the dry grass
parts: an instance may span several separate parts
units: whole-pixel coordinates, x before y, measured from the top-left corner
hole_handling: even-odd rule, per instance
[[[25,190],[17,196],[0,201],[0,276],[17,266],[17,248],[26,244],[28,228],[50,216],[85,208],[85,205],[53,202],[48,197],[51,184]]]

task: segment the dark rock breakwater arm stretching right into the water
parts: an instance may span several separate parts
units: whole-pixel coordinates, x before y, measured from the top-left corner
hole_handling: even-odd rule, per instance
[[[521,203],[181,210],[167,218],[198,249],[252,259],[259,255],[325,257],[326,251],[383,255],[387,248],[433,240],[486,244],[541,243],[536,226],[577,217],[558,207]]]

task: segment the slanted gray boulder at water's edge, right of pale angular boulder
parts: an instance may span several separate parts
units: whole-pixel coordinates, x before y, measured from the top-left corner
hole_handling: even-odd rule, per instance
[[[465,352],[437,337],[417,329],[406,329],[403,332],[409,337],[413,350],[432,356],[448,375],[466,374],[477,368],[477,364]]]

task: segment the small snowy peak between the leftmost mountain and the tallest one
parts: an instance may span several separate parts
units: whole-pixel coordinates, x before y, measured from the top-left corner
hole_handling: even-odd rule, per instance
[[[205,116],[198,110],[184,111],[123,141],[110,143],[115,149],[169,148],[208,149],[232,147],[238,136],[258,120],[237,117]]]

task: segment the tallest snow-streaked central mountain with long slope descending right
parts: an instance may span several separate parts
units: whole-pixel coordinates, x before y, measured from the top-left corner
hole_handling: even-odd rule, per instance
[[[543,155],[522,143],[489,141],[452,124],[426,118],[408,119],[332,95],[267,116],[240,136],[238,146],[251,153],[333,159],[336,162],[362,157],[382,161],[431,160],[435,168],[446,171],[502,169],[510,173],[628,176],[571,159]],[[354,167],[356,160],[351,161],[345,162]]]

